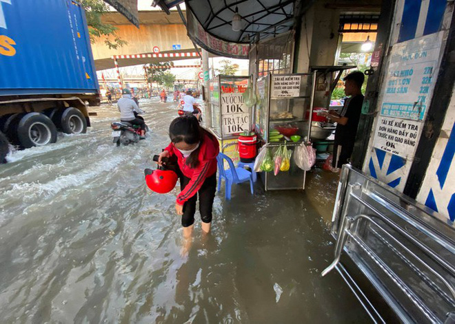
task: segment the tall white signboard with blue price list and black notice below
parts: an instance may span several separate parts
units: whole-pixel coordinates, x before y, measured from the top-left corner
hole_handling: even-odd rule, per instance
[[[376,149],[402,158],[414,156],[432,98],[442,40],[440,32],[392,48],[374,133]]]

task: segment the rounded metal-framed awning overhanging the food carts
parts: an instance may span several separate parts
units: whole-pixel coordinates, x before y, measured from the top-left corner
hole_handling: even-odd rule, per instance
[[[169,10],[176,1],[156,1]],[[292,29],[295,0],[186,0],[188,36],[205,50],[221,56],[247,58],[253,39]],[[308,1],[311,2],[311,1]],[[173,5],[175,6],[175,5]],[[232,30],[235,13],[241,28]]]

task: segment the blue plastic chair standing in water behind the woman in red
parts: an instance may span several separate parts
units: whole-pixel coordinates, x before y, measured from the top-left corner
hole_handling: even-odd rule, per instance
[[[223,160],[228,161],[229,169],[224,169]],[[250,191],[254,195],[253,189],[253,176],[250,171],[247,171],[243,168],[235,167],[234,162],[223,153],[219,153],[216,156],[216,161],[218,162],[218,191],[221,189],[221,179],[225,181],[225,199],[231,199],[231,188],[232,184],[241,184],[242,182],[250,181]]]

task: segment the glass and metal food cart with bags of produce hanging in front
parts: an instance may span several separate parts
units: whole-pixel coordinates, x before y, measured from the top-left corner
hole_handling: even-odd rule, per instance
[[[254,131],[272,151],[284,144],[270,142],[269,131],[280,127],[290,128],[301,136],[298,142],[287,138],[287,149],[292,150],[311,138],[311,119],[314,101],[316,72],[312,74],[269,74],[259,78],[257,91],[259,103],[254,109]],[[306,171],[290,159],[289,171],[262,173],[265,190],[304,189]]]

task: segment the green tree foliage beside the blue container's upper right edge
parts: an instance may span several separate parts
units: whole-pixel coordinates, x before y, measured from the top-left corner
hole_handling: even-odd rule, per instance
[[[109,12],[109,7],[103,0],[79,0],[79,2],[85,10],[91,43],[96,42],[101,37],[105,37],[104,43],[110,49],[117,49],[128,44],[127,41],[123,41],[117,35],[117,27],[101,21],[101,16],[105,12]]]

